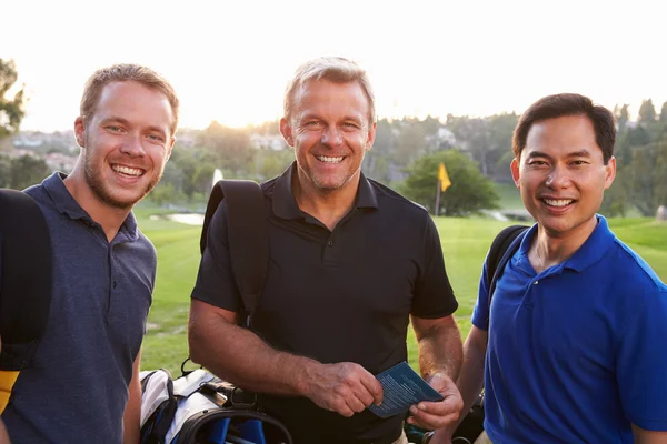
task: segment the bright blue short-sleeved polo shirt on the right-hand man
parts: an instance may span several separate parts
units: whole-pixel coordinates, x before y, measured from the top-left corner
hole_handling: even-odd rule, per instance
[[[633,443],[631,424],[667,431],[667,286],[597,219],[570,259],[541,273],[528,260],[534,225],[497,283],[485,369],[494,443]],[[482,279],[472,323],[486,330],[488,317]]]

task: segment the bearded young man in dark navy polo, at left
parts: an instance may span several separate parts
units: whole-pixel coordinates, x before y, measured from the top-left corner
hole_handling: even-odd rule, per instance
[[[148,68],[98,70],[74,121],[73,171],[26,191],[49,226],[53,285],[47,330],[2,413],[14,444],[139,442],[156,251],[131,210],[162,175],[178,103]]]

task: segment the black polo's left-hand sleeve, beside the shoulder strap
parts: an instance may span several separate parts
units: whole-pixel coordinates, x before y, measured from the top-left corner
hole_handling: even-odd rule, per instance
[[[233,279],[229,255],[227,205],[218,206],[207,233],[207,244],[191,297],[220,309],[238,312],[241,296]]]

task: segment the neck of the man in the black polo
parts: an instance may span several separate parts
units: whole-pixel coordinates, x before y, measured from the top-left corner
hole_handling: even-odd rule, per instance
[[[322,191],[312,182],[301,178],[300,173],[292,183],[293,195],[299,209],[323,223],[334,231],[338,222],[350,211],[359,189],[358,172],[348,183],[338,190]]]

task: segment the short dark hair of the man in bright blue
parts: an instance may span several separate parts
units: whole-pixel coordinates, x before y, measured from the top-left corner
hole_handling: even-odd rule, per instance
[[[521,157],[521,151],[526,148],[528,132],[534,123],[565,115],[586,115],[590,119],[595,130],[595,141],[603,150],[603,160],[607,164],[614,155],[614,143],[616,143],[614,114],[605,107],[594,104],[589,98],[574,93],[544,97],[521,114],[511,140],[511,150],[515,158],[519,159]]]

